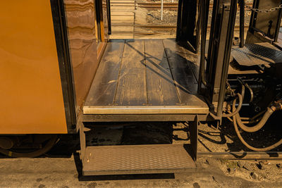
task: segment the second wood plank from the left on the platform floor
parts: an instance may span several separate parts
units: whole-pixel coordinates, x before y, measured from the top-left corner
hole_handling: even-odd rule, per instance
[[[146,105],[145,76],[144,42],[142,40],[126,40],[115,104],[120,106]]]

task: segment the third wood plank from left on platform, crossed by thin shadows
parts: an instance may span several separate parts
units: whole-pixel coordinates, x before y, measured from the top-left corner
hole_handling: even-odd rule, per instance
[[[176,86],[164,51],[159,40],[145,40],[147,96],[151,105],[180,104]]]

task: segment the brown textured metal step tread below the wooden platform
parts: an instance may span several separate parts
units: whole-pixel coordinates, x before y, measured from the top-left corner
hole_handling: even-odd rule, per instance
[[[190,144],[87,146],[83,175],[195,172]]]

